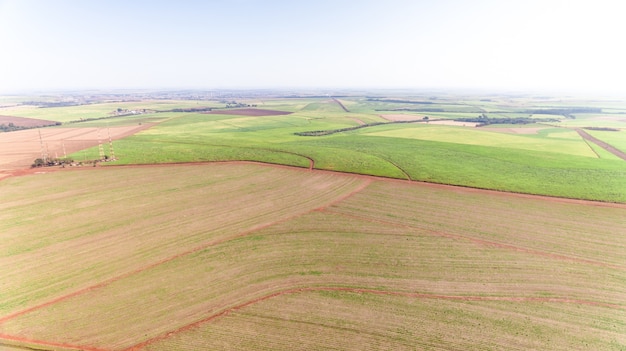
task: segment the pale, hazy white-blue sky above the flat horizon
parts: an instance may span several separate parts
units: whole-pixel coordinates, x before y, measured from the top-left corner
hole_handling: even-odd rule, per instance
[[[620,0],[0,0],[0,92],[415,88],[626,97]]]

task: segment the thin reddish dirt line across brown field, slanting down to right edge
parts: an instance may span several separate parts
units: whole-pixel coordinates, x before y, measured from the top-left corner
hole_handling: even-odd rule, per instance
[[[360,220],[364,220],[364,221],[368,221],[368,222],[381,223],[381,224],[385,224],[385,225],[391,225],[391,226],[395,226],[395,227],[402,227],[402,228],[408,228],[408,229],[419,229],[419,230],[425,231],[425,232],[427,232],[427,233],[429,233],[431,235],[444,237],[444,238],[448,238],[448,239],[462,239],[462,240],[470,241],[470,242],[472,242],[474,244],[478,244],[478,245],[481,245],[481,246],[488,246],[488,247],[494,247],[494,248],[499,248],[499,249],[507,249],[507,250],[527,253],[527,254],[531,254],[531,255],[535,255],[535,256],[553,258],[553,259],[562,260],[562,261],[571,261],[571,262],[576,262],[576,263],[585,263],[585,264],[590,264],[590,265],[594,265],[594,266],[607,267],[607,268],[613,268],[613,269],[617,269],[617,270],[621,270],[621,271],[626,271],[626,267],[623,267],[623,266],[618,266],[618,265],[605,263],[605,262],[594,261],[594,260],[590,260],[590,259],[586,259],[586,258],[571,257],[571,256],[566,256],[566,255],[561,255],[561,254],[556,254],[556,253],[539,251],[539,250],[529,249],[529,248],[525,248],[525,247],[521,247],[521,246],[511,245],[511,244],[499,243],[499,242],[479,239],[479,238],[475,238],[475,237],[471,237],[471,236],[464,236],[464,235],[459,235],[459,234],[452,234],[452,233],[447,233],[447,232],[441,232],[441,231],[437,231],[437,230],[422,228],[422,227],[408,225],[408,224],[396,223],[396,222],[392,222],[392,221],[385,221],[385,220],[382,220],[382,219],[374,219],[374,218],[369,218],[369,217],[365,217],[365,216],[357,216],[357,215],[347,214],[347,213],[343,213],[343,212],[339,212],[339,211],[333,211],[333,210],[329,210],[329,209],[324,209],[324,211],[328,212],[328,213],[333,213],[333,214],[337,214],[337,215],[341,215],[341,216],[345,216],[345,217],[360,219]]]

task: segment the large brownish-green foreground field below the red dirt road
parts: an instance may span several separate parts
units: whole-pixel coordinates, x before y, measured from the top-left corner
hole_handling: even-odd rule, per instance
[[[0,193],[7,348],[626,346],[620,204],[251,163]]]

